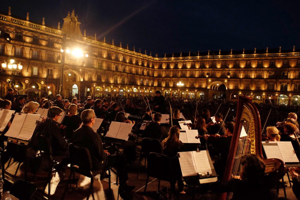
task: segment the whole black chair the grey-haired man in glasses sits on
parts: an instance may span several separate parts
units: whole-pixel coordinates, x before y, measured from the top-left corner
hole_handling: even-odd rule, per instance
[[[71,176],[74,172],[77,172],[81,175],[91,178],[91,185],[88,190],[87,200],[90,197],[90,194],[92,194],[92,198],[95,199],[94,198],[94,188],[93,188],[94,177],[98,174],[106,172],[107,170],[109,171],[109,190],[111,190],[109,166],[102,170],[92,170],[91,155],[90,155],[90,152],[88,151],[88,149],[85,147],[70,144],[69,145],[69,154],[70,154],[70,160],[71,160],[71,172],[70,172],[70,176],[68,179],[68,183],[67,183],[64,193],[62,195],[62,199],[65,198],[66,190],[68,189],[68,185],[71,181]],[[74,176],[73,176],[73,178],[74,178]],[[70,187],[71,187],[71,185],[70,185]]]

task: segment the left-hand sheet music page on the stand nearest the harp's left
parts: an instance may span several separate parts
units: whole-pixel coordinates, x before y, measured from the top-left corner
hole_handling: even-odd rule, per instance
[[[192,151],[178,152],[183,177],[198,175]]]

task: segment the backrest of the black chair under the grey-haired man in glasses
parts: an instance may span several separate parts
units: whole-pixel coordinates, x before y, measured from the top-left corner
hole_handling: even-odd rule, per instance
[[[69,145],[69,154],[70,154],[70,161],[71,166],[77,165],[79,169],[83,170],[92,170],[92,160],[90,151],[87,148],[70,144]]]

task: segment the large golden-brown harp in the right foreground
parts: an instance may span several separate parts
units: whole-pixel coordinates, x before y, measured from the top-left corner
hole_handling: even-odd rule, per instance
[[[282,160],[264,159],[261,137],[259,112],[252,103],[252,98],[239,96],[236,123],[226,163],[224,181],[230,180],[231,174],[239,175],[242,167],[240,158],[248,153],[256,154],[264,161],[265,172],[270,180],[277,181],[285,175],[286,167]],[[232,193],[223,193],[221,197],[222,200],[231,198]]]

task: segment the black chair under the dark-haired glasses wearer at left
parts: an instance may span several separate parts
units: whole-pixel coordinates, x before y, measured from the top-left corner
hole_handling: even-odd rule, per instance
[[[44,189],[46,188],[46,186],[48,184],[48,199],[49,199],[50,198],[51,178],[52,178],[51,175],[52,175],[53,169],[54,169],[55,165],[58,163],[57,161],[60,161],[64,158],[66,158],[66,155],[53,156],[52,155],[52,148],[51,148],[51,145],[49,143],[49,139],[46,136],[41,135],[41,134],[38,134],[37,138],[38,138],[38,143],[39,143],[39,151],[40,151],[39,157],[40,157],[40,160],[39,160],[39,164],[36,168],[36,172],[33,175],[32,181],[34,180],[34,178],[36,176],[38,168],[41,164],[41,160],[42,159],[47,160],[48,161],[48,166],[46,168],[46,172],[48,172],[48,177],[47,177],[47,182],[45,183]]]

